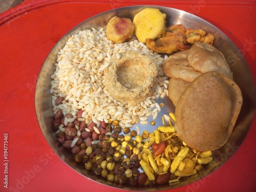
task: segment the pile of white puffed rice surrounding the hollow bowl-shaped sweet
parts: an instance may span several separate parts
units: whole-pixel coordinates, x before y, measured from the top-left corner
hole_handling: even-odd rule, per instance
[[[109,67],[110,59],[113,55],[119,58],[120,53],[127,50],[147,55],[158,67],[155,93],[134,106],[120,103],[104,87],[103,73]],[[166,58],[166,55],[162,58],[160,54],[149,50],[136,37],[122,44],[113,44],[106,38],[103,28],[79,31],[68,39],[57,54],[56,70],[51,76],[53,110],[56,112],[61,109],[63,114],[71,113],[75,116],[81,109],[84,112],[79,120],[87,123],[118,119],[121,127],[132,127],[132,122],[135,123],[135,120],[140,118],[141,124],[147,124],[148,117],[153,116],[155,119],[158,111],[161,111],[155,100],[168,93],[168,80],[161,68],[162,61]],[[58,97],[65,97],[65,102],[56,106],[55,100]],[[66,119],[65,124],[68,121]],[[62,129],[61,127],[60,130]]]

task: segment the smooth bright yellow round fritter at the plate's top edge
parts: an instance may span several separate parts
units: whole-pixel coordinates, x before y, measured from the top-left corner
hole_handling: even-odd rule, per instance
[[[140,42],[156,39],[165,33],[166,14],[159,9],[145,8],[134,16],[134,34]]]

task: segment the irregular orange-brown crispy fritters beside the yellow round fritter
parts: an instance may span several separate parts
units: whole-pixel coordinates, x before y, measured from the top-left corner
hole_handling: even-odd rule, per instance
[[[165,30],[165,36],[157,39],[147,38],[146,46],[158,53],[173,53],[175,51],[184,51],[190,49],[195,42],[205,42],[211,44],[214,36],[210,33],[198,29],[186,29],[183,25],[177,24],[168,27]]]

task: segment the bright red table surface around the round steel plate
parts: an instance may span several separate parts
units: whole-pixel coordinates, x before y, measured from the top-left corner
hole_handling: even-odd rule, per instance
[[[122,191],[81,176],[55,155],[38,125],[34,95],[42,63],[63,35],[95,14],[132,5],[177,8],[215,25],[241,50],[255,82],[256,4],[253,1],[25,0],[0,14],[0,191]],[[3,150],[6,133],[8,166],[4,165]],[[246,139],[227,163],[206,178],[172,191],[256,191],[255,135],[254,118]],[[5,175],[8,188],[4,187]]]

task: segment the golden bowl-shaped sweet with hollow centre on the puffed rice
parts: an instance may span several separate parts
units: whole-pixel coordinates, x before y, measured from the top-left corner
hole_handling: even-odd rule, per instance
[[[105,69],[105,87],[118,101],[135,105],[155,91],[157,66],[153,60],[136,51],[113,56]]]

